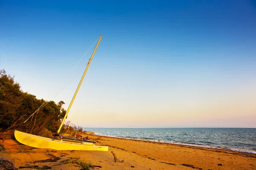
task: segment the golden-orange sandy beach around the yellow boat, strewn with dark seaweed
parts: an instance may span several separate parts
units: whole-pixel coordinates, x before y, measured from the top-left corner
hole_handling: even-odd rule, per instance
[[[256,155],[229,150],[182,146],[159,142],[99,136],[88,138],[109,151],[50,150],[28,147],[12,138],[1,140],[0,157],[15,160],[19,169],[81,170],[77,161],[87,161],[95,170],[253,170]],[[119,162],[115,162],[113,151]]]

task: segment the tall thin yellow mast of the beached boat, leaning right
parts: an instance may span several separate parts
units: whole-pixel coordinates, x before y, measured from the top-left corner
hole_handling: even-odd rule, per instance
[[[66,112],[66,114],[65,114],[65,116],[64,116],[64,118],[63,118],[63,121],[61,122],[61,126],[60,126],[60,128],[58,129],[58,132],[57,132],[57,133],[60,133],[60,131],[61,131],[61,127],[63,126],[64,121],[65,121],[66,118],[67,118],[67,114],[68,114],[68,112],[70,111],[70,108],[71,108],[71,106],[72,106],[72,104],[73,104],[73,101],[74,101],[75,98],[76,98],[76,94],[77,94],[77,92],[78,92],[78,90],[79,90],[79,88],[80,88],[80,86],[81,86],[81,84],[82,84],[82,81],[83,81],[83,79],[84,79],[84,76],[85,76],[85,74],[86,74],[86,72],[87,72],[87,69],[88,69],[89,66],[90,66],[90,62],[91,62],[92,59],[93,59],[93,55],[94,55],[94,53],[96,52],[96,49],[97,49],[97,47],[98,47],[98,45],[99,45],[99,42],[100,42],[101,38],[102,38],[102,35],[100,35],[99,40],[98,40],[98,43],[96,44],[96,47],[95,47],[95,49],[94,49],[94,51],[93,51],[93,54],[92,54],[92,56],[91,56],[89,62],[87,63],[87,66],[86,66],[86,68],[85,68],[85,70],[84,70],[84,74],[83,74],[83,76],[82,76],[82,78],[81,78],[81,80],[80,80],[80,82],[79,82],[79,85],[78,85],[78,87],[77,87],[77,89],[76,89],[76,92],[75,92],[75,94],[74,94],[74,96],[73,96],[71,102],[70,102],[70,105],[69,105],[69,107],[67,108],[67,112]]]

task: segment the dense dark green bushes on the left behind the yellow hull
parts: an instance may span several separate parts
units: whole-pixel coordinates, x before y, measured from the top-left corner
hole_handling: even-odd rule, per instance
[[[57,132],[66,114],[66,110],[62,108],[64,102],[46,103],[47,101],[39,100],[35,95],[23,92],[20,84],[14,81],[14,76],[7,75],[3,69],[0,70],[0,128],[23,130],[31,134],[38,134],[44,128]],[[35,112],[44,104],[44,107]],[[32,115],[33,113],[35,114]],[[29,120],[23,123],[27,118]]]

